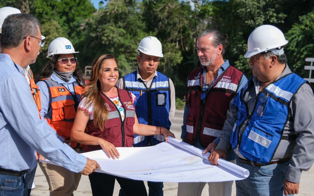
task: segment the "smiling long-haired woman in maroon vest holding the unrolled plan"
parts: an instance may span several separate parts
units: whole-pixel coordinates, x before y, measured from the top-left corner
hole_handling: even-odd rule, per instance
[[[86,152],[103,149],[115,159],[119,158],[116,147],[132,147],[134,132],[138,135],[163,134],[166,140],[168,136],[174,137],[163,127],[138,123],[133,105],[136,96],[115,87],[118,78],[114,56],[101,55],[95,59],[71,130],[72,140],[85,144]],[[143,181],[97,172],[89,175],[93,195],[112,195],[115,179],[127,195],[147,195]]]

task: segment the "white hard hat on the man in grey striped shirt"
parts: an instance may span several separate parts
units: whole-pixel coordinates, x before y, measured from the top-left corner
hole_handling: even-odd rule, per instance
[[[262,25],[250,34],[244,57],[249,58],[264,51],[272,51],[275,55],[282,55],[284,49],[281,46],[287,43],[288,40],[284,38],[280,29],[272,25]]]

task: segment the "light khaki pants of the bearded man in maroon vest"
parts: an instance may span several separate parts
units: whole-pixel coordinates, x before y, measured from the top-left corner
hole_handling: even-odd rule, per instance
[[[236,163],[236,160],[230,161]],[[209,196],[231,196],[233,181],[208,183]],[[179,183],[178,196],[201,196],[206,183]]]

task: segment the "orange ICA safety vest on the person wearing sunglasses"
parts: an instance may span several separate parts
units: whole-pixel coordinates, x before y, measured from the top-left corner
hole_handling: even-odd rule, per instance
[[[48,124],[57,131],[65,140],[71,140],[71,129],[79,104],[83,88],[77,82],[73,82],[75,94],[73,95],[66,87],[51,78],[43,79],[49,89],[50,106],[45,119]],[[76,141],[71,141],[73,149],[81,147]]]

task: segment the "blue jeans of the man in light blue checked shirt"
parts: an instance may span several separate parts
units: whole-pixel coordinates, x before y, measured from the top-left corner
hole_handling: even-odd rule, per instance
[[[0,196],[26,196],[26,174],[23,176],[11,176],[0,174]]]

